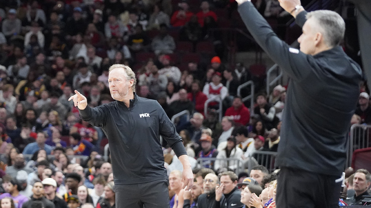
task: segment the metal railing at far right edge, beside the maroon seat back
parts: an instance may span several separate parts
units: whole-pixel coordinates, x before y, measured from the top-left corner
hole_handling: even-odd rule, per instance
[[[350,128],[348,145],[348,166],[352,162],[354,150],[371,147],[371,125],[353,124]]]

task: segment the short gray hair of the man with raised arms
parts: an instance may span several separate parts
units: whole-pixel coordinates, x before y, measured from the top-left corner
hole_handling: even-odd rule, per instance
[[[306,14],[306,19],[309,18],[314,18],[323,29],[324,40],[329,47],[340,44],[344,38],[345,22],[338,13],[330,10],[316,10]]]

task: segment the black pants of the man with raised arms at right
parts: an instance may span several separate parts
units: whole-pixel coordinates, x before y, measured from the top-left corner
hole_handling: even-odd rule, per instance
[[[279,208],[338,208],[342,181],[335,180],[340,177],[281,168],[276,205]]]

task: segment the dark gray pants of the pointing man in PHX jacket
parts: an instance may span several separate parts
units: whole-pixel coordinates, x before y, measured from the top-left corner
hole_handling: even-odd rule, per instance
[[[115,185],[116,208],[169,208],[168,180]]]

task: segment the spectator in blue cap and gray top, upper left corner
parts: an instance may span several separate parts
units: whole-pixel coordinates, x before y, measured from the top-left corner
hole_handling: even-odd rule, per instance
[[[8,11],[7,19],[2,22],[2,32],[4,36],[9,39],[13,35],[20,34],[22,22],[17,18],[17,10],[10,9]]]

